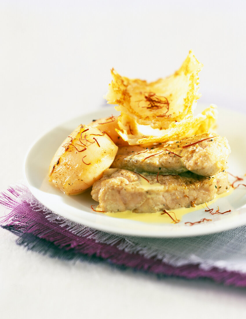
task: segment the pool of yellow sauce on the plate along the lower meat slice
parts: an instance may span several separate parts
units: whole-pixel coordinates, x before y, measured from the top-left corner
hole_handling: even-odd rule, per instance
[[[157,185],[156,185],[157,186]],[[214,199],[207,204],[213,204],[218,198],[225,197],[232,192],[233,188],[230,187],[227,192],[222,193],[220,195],[215,195]],[[188,208],[177,208],[171,211],[167,211],[173,219],[182,220],[182,217],[192,211],[197,211],[199,209],[207,209],[206,204],[196,205],[195,207]],[[100,208],[98,207],[98,211]],[[163,211],[157,211],[153,213],[134,213],[132,211],[118,211],[118,212],[102,212],[106,216],[114,217],[114,218],[123,218],[123,219],[131,219],[136,221],[141,221],[144,223],[159,223],[159,224],[170,224],[174,221],[168,216],[168,214],[162,214]],[[174,215],[175,214],[175,215]],[[175,218],[176,217],[176,218]]]

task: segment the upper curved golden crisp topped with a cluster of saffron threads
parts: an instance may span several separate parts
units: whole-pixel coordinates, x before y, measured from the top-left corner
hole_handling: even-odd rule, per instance
[[[118,104],[115,108],[121,115],[131,117],[137,124],[167,129],[171,122],[193,113],[200,97],[198,72],[202,67],[190,51],[179,70],[155,82],[122,77],[112,69],[113,80],[106,99],[109,104]],[[122,116],[118,124],[121,130],[135,134]]]

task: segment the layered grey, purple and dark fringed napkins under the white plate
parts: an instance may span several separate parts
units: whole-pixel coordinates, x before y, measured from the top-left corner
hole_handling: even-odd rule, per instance
[[[17,243],[27,249],[51,257],[104,261],[158,275],[210,278],[226,285],[246,287],[246,270],[242,267],[244,259],[238,260],[237,264],[231,262],[236,257],[228,255],[228,247],[227,260],[211,259],[211,256],[206,258],[206,255],[199,256],[197,253],[199,244],[202,249],[214,243],[219,245],[223,233],[184,239],[150,239],[110,234],[58,216],[40,204],[23,185],[11,187],[8,192],[2,193],[0,204],[5,208],[1,226],[16,234]],[[240,231],[245,234],[245,228]],[[230,242],[234,240],[232,232],[224,232],[227,233],[226,242],[228,238]],[[240,241],[242,247],[239,245],[241,250],[239,247],[238,255],[242,257],[245,254],[246,261],[245,235],[244,240]],[[193,250],[189,242],[192,242]],[[196,245],[198,248],[194,250]],[[189,250],[186,251],[184,247],[189,247]],[[216,254],[220,256],[222,250],[218,249]],[[237,269],[237,265],[241,265],[241,268]]]

